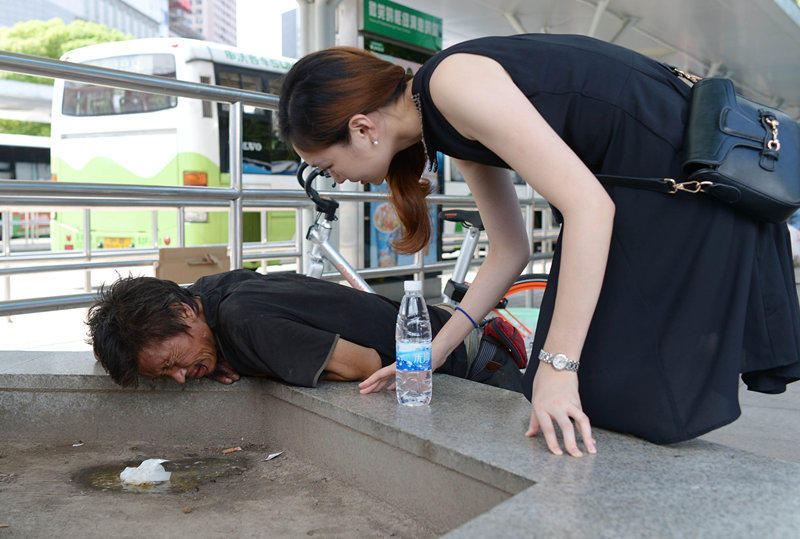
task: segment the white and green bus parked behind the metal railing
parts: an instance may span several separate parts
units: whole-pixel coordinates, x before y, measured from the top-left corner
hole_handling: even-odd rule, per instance
[[[62,60],[179,80],[278,94],[294,60],[270,58],[182,38],[150,38],[92,45]],[[230,185],[228,105],[185,97],[56,80],[51,168],[59,182],[141,185]],[[277,135],[277,115],[244,107],[243,178],[246,188],[295,188],[297,156]],[[294,211],[267,214],[268,239],[290,239]],[[177,244],[177,211],[158,211],[157,239],[149,211],[92,210],[92,248]],[[244,240],[258,241],[260,213],[245,213]],[[225,243],[226,212],[185,212],[186,245]],[[51,222],[53,250],[83,248],[83,217],[59,211]]]

